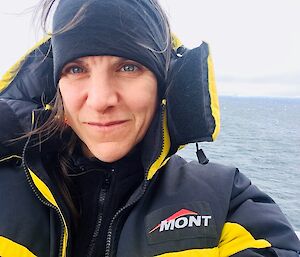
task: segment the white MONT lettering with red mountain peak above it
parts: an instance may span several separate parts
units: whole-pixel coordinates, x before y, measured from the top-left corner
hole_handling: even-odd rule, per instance
[[[157,229],[159,229],[159,232],[163,232],[193,226],[208,227],[210,219],[211,216],[200,216],[197,212],[181,209],[180,211],[171,215],[169,218],[162,220],[157,226],[149,231],[149,234],[153,233]]]

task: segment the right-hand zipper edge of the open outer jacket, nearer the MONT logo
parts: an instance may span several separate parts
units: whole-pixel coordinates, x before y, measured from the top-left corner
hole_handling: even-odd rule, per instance
[[[156,157],[155,161],[157,161],[159,159],[159,157],[162,155],[162,152],[163,152],[163,148],[164,148],[164,112],[165,112],[165,106],[166,104],[163,103],[162,105],[162,111],[161,111],[161,131],[162,131],[162,146],[161,146],[161,152],[159,153],[159,155]],[[154,161],[154,162],[155,162]],[[154,163],[152,162],[152,163]],[[148,166],[147,168],[147,171],[149,171],[152,163]],[[148,172],[146,172],[146,175],[147,175]],[[109,228],[108,228],[108,233],[107,233],[107,237],[106,237],[106,247],[105,247],[105,257],[110,257],[111,255],[111,246],[112,246],[112,236],[113,236],[113,224],[115,222],[115,220],[117,219],[117,217],[123,212],[125,211],[127,208],[133,206],[134,204],[136,204],[141,198],[142,196],[144,195],[144,193],[146,192],[146,189],[147,189],[147,186],[148,186],[148,181],[145,177],[145,183],[143,185],[143,189],[142,189],[142,192],[141,194],[139,195],[139,197],[137,197],[134,201],[132,201],[131,203],[125,205],[124,207],[122,207],[121,209],[119,209],[116,214],[114,215],[114,217],[112,218],[111,222],[110,222],[110,225],[109,225]]]

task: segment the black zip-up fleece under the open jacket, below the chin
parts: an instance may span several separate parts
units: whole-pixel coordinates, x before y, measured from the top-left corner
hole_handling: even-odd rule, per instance
[[[73,226],[77,229],[73,234],[72,256],[104,256],[113,216],[143,181],[139,153],[135,150],[114,163],[75,154],[72,163],[71,192],[80,213],[78,224]]]

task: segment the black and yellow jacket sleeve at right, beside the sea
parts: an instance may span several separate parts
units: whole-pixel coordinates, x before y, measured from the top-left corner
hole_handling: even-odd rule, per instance
[[[220,256],[299,257],[300,241],[278,205],[236,170]]]

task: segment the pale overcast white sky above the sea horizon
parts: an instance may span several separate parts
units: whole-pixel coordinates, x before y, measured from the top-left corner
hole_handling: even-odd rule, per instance
[[[210,44],[221,95],[300,97],[299,0],[160,1],[186,46]],[[36,3],[1,5],[1,75],[40,38]]]

